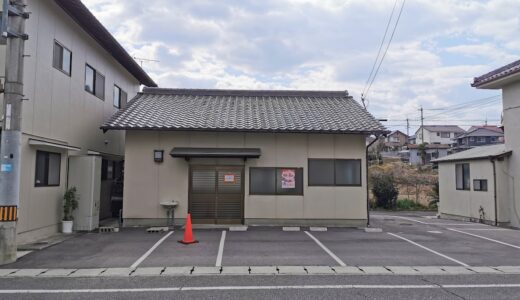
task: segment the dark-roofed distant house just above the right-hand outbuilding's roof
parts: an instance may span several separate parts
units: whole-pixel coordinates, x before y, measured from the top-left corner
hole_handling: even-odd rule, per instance
[[[478,146],[504,143],[504,133],[496,126],[472,126],[466,133],[457,137],[454,150],[459,152]]]

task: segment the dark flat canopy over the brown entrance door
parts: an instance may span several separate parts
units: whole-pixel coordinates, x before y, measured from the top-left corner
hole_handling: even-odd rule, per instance
[[[259,158],[260,148],[187,148],[175,147],[172,157],[210,157],[210,158]]]

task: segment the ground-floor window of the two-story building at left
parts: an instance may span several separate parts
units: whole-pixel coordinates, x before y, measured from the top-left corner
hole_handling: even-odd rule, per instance
[[[60,185],[61,154],[37,151],[36,152],[36,176],[34,185],[59,186]]]

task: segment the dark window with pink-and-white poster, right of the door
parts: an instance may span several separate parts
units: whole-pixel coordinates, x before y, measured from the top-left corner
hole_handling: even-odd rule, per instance
[[[249,194],[303,195],[303,168],[250,168]]]

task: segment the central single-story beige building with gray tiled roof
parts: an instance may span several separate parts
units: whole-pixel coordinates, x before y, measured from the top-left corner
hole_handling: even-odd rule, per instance
[[[145,88],[103,130],[125,130],[123,219],[361,226],[365,138],[388,133],[346,91]]]

